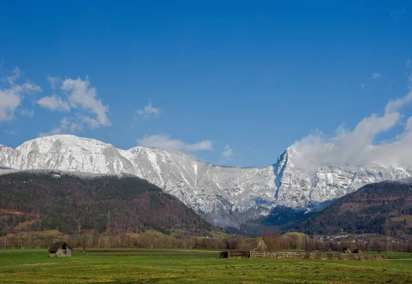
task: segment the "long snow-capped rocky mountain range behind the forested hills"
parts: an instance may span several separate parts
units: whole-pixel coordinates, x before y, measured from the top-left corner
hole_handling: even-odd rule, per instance
[[[293,155],[288,148],[265,168],[212,166],[178,151],[122,150],[98,140],[53,135],[15,149],[0,146],[0,168],[136,175],[220,226],[238,226],[277,206],[306,210],[371,182],[412,176],[411,169],[395,166],[350,165],[322,166],[310,175],[295,167]]]

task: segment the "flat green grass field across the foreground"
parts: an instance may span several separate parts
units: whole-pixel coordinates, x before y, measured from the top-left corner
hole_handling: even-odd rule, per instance
[[[119,256],[131,254],[132,256]],[[150,255],[151,254],[151,255]],[[0,250],[0,283],[412,283],[412,256],[389,261],[218,259],[218,252]]]

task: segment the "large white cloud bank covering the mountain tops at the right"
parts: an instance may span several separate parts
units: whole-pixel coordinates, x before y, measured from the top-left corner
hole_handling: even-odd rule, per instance
[[[412,91],[403,98],[390,101],[382,116],[373,114],[364,118],[350,131],[339,127],[336,135],[327,138],[312,133],[291,146],[291,160],[297,168],[314,173],[319,166],[353,166],[392,164],[412,167],[412,118],[404,131],[391,142],[375,143],[377,135],[402,123],[400,109],[411,102]]]

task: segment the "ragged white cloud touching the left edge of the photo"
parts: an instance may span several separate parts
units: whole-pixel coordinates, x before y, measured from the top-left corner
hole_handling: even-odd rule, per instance
[[[35,83],[16,83],[20,76],[20,69],[16,67],[12,76],[2,80],[8,87],[0,87],[0,122],[14,119],[14,113],[25,96],[42,91]]]

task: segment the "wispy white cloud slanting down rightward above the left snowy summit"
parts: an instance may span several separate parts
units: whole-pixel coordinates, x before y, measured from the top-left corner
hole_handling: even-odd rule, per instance
[[[89,78],[86,80],[80,78],[63,80],[61,89],[68,92],[68,100],[72,107],[95,114],[98,127],[111,125],[107,118],[108,105],[103,105],[102,100],[98,98],[95,87],[90,87]]]

